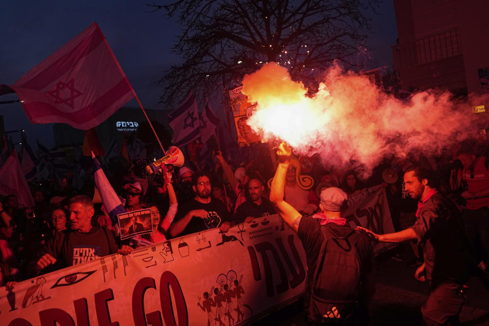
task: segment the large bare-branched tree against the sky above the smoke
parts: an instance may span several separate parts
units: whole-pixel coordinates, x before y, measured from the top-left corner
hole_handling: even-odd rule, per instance
[[[178,0],[148,5],[178,17],[182,32],[173,50],[183,63],[166,71],[160,102],[188,90],[208,96],[222,85],[275,61],[314,89],[315,76],[334,60],[354,64],[365,48],[368,9],[377,0]]]

